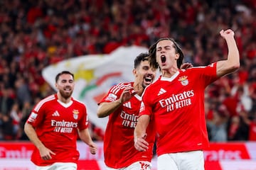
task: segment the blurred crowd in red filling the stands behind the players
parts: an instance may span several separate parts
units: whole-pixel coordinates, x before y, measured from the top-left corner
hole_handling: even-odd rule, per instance
[[[209,138],[256,141],[255,16],[255,0],[1,0],[0,140],[28,140],[31,108],[55,93],[41,75],[49,64],[171,37],[184,62],[208,65],[226,59],[219,31],[232,28],[241,67],[206,89]],[[103,139],[102,130],[90,129]]]

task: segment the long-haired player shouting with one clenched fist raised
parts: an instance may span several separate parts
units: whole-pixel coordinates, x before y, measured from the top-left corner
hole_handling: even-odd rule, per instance
[[[208,147],[204,113],[204,90],[220,77],[240,67],[233,30],[220,30],[228,45],[228,58],[206,67],[178,69],[181,47],[171,38],[161,38],[149,49],[149,62],[162,75],[146,87],[140,117],[134,130],[134,147],[146,151],[146,127],[154,122],[158,135],[158,169],[204,169],[203,149]]]

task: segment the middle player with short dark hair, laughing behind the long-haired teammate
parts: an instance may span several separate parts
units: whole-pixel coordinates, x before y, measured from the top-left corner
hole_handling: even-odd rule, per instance
[[[156,69],[149,66],[149,55],[141,53],[134,60],[134,81],[114,85],[102,98],[97,116],[109,115],[104,137],[104,157],[107,169],[151,169],[154,128],[148,128],[149,149],[139,152],[134,148],[134,128],[137,124],[141,95],[156,77]]]

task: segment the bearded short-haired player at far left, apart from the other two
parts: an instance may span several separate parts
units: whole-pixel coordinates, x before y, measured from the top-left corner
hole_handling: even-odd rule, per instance
[[[91,154],[97,151],[88,130],[86,107],[71,96],[74,86],[72,73],[57,74],[58,92],[39,101],[26,121],[24,131],[36,146],[31,161],[37,170],[77,169],[78,135],[90,147]]]

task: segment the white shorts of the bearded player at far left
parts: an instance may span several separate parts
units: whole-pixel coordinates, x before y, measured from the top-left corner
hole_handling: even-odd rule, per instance
[[[70,162],[56,162],[48,166],[36,166],[36,170],[77,170],[78,165]]]

